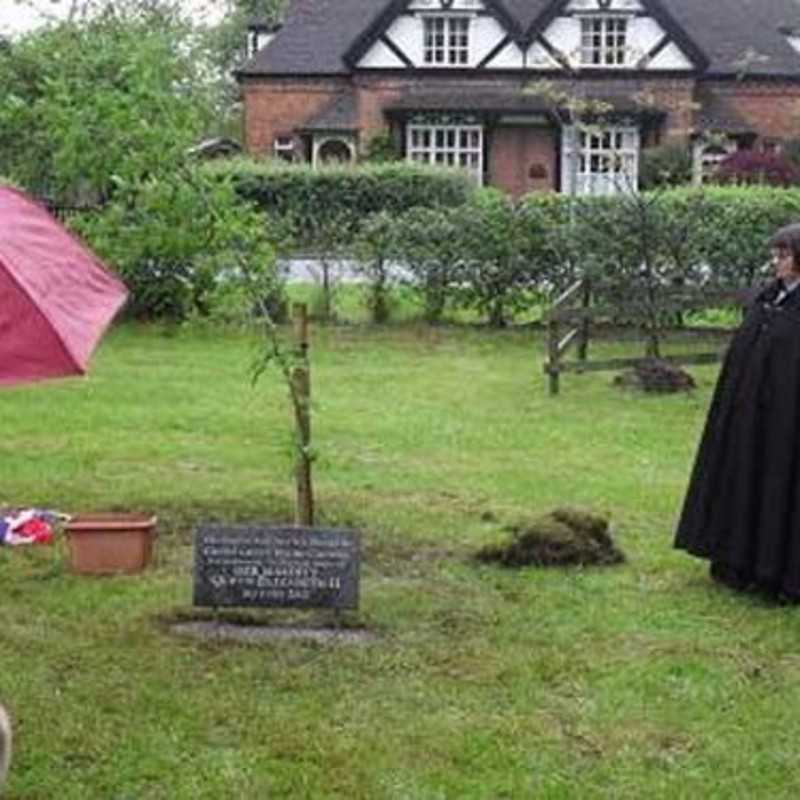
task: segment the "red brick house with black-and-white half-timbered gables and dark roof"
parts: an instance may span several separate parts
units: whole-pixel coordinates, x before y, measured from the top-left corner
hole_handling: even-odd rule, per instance
[[[390,136],[518,196],[636,185],[645,148],[696,176],[800,131],[794,0],[293,0],[238,72],[247,150],[354,161]]]

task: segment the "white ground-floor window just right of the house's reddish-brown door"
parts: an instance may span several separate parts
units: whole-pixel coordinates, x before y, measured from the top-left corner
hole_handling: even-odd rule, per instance
[[[562,191],[580,195],[636,191],[640,150],[640,131],[633,125],[565,128]]]

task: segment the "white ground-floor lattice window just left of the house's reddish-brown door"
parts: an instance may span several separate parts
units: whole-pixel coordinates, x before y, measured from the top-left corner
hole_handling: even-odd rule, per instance
[[[406,160],[416,164],[463,167],[483,184],[482,125],[406,126]]]

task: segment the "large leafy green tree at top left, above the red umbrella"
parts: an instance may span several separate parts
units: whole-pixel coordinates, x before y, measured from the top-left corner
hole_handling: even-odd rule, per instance
[[[60,202],[174,171],[214,98],[192,26],[161,0],[107,4],[0,51],[0,172]]]

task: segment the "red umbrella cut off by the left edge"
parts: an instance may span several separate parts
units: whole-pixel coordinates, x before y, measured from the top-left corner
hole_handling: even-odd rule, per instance
[[[42,206],[0,187],[0,384],[86,372],[127,294]]]

